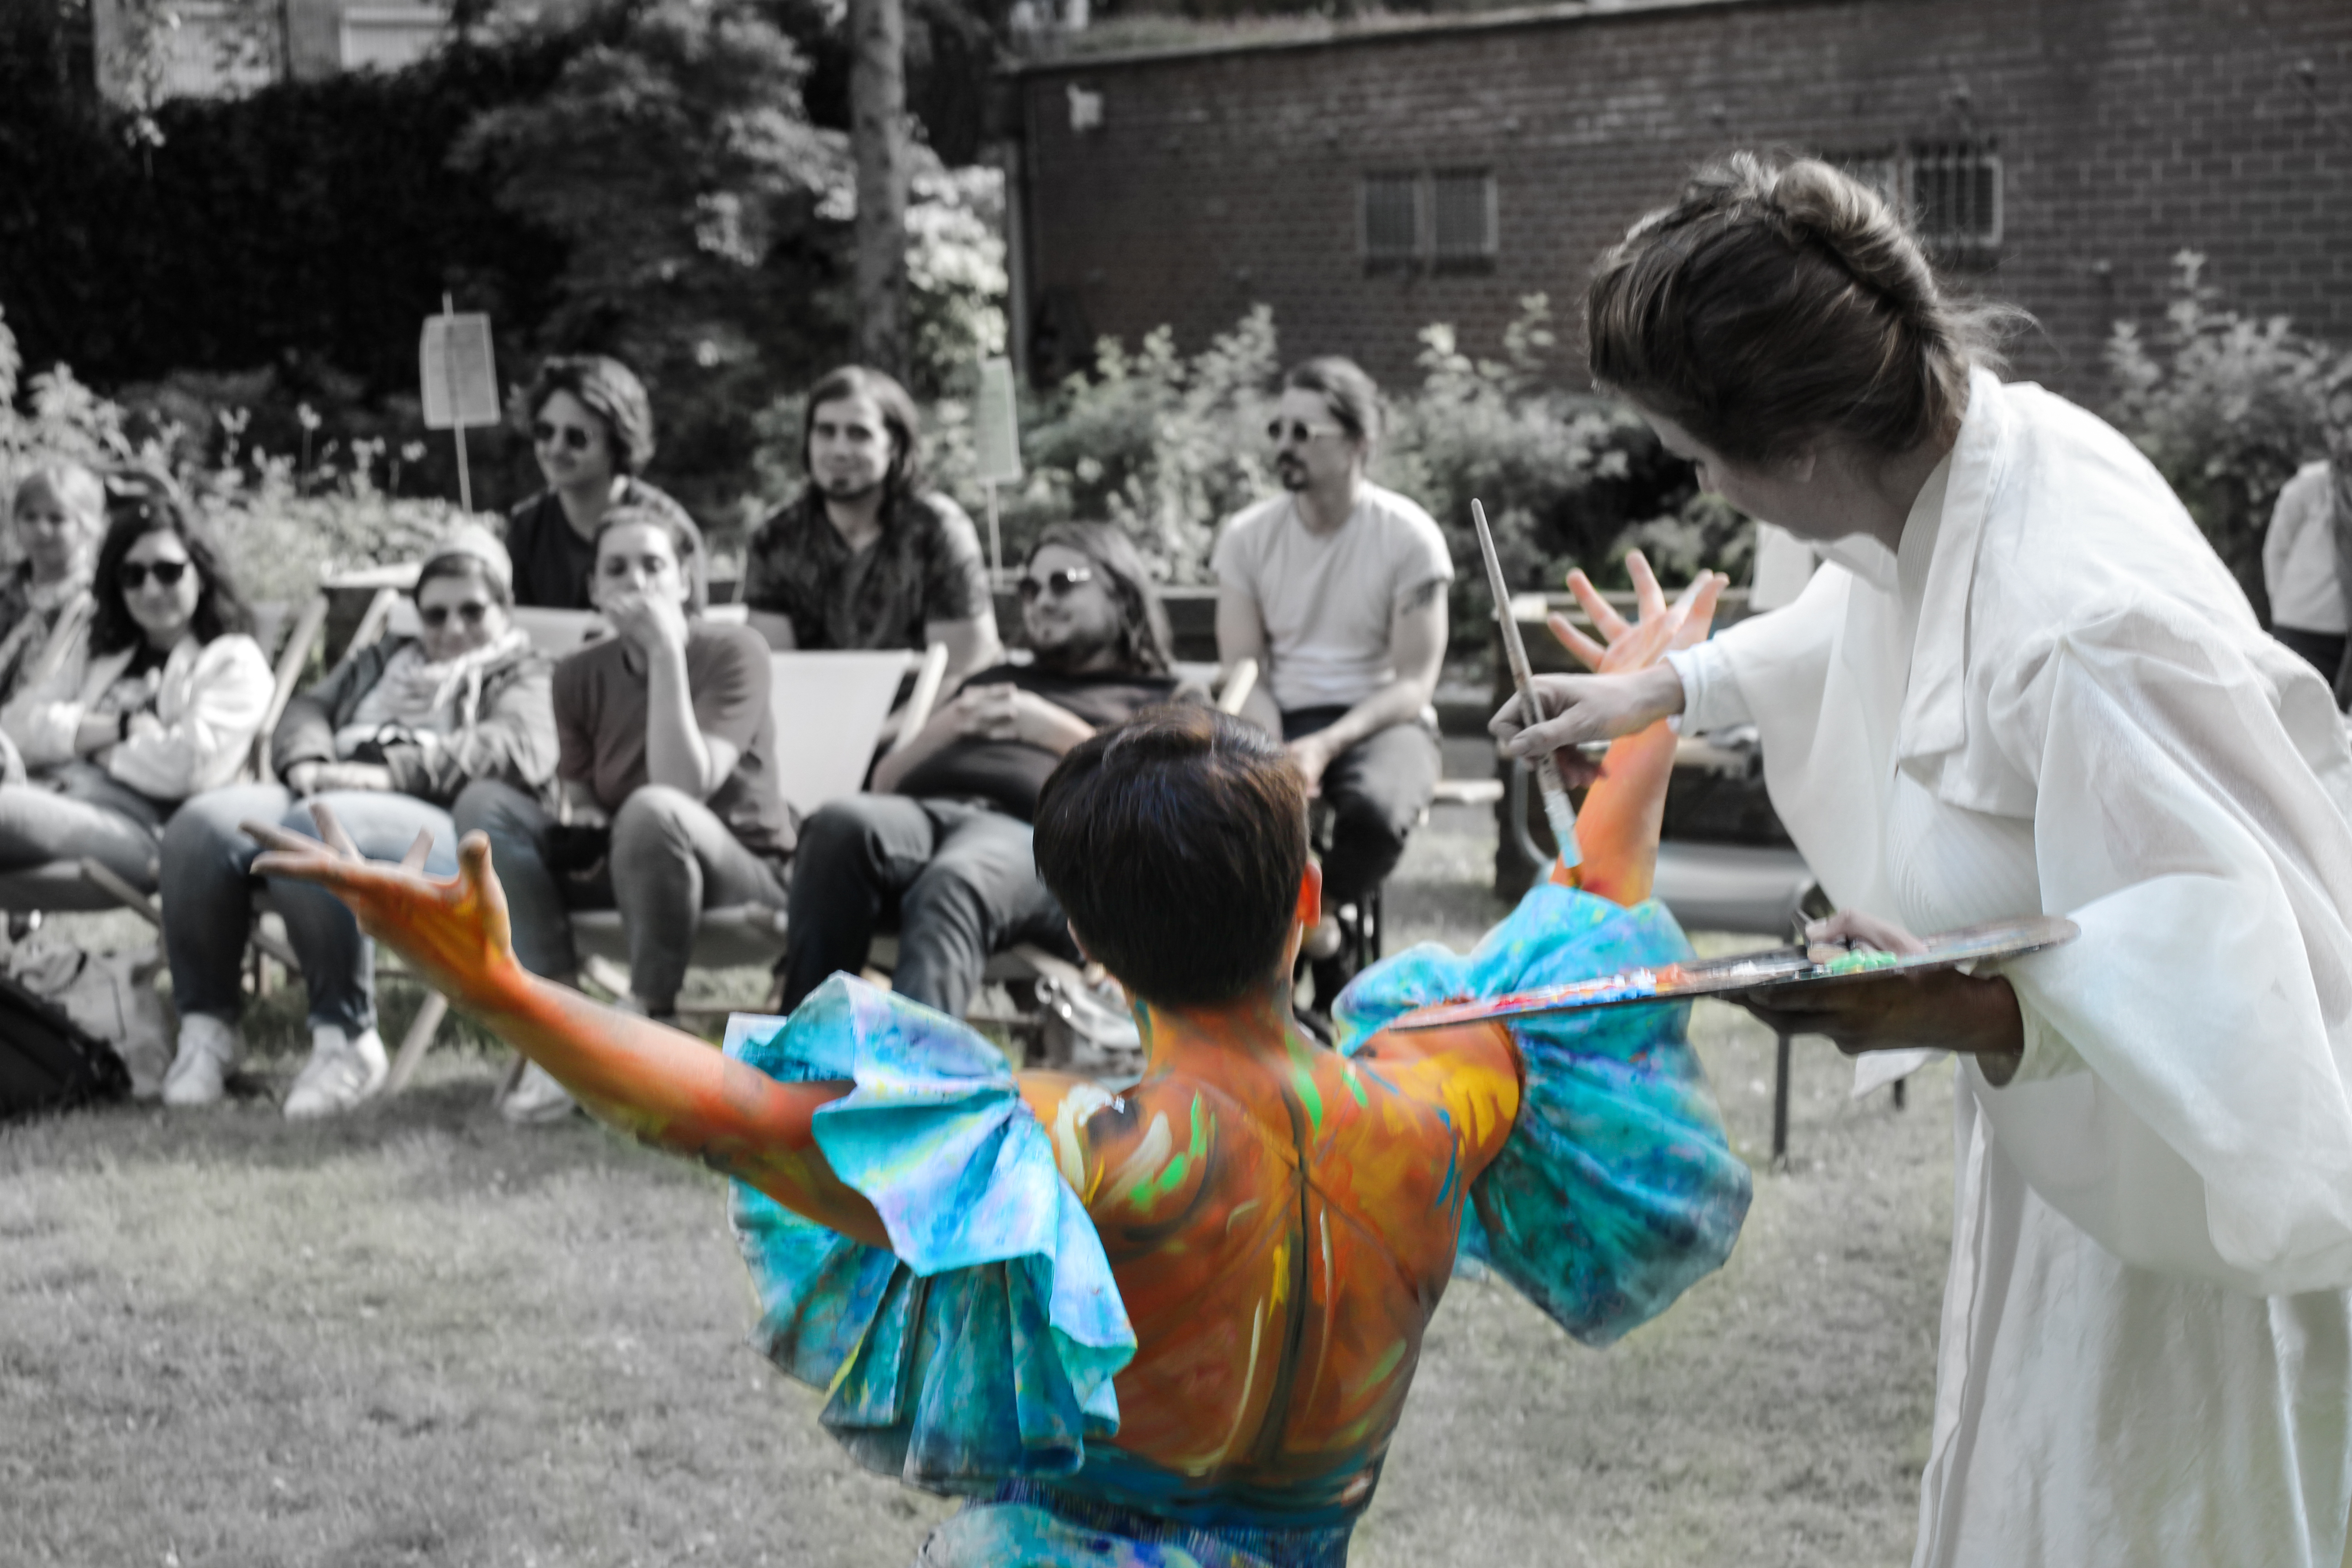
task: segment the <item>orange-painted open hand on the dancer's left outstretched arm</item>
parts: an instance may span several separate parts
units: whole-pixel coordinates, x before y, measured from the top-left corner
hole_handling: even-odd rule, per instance
[[[452,1001],[485,1006],[503,997],[522,976],[506,922],[506,891],[489,870],[489,839],[480,832],[459,844],[459,872],[449,882],[423,875],[433,835],[419,832],[397,865],[367,860],[334,811],[310,804],[318,839],[273,823],[242,823],[268,846],[254,860],[263,877],[294,877],[327,889],[360,917],[360,929],[407,959],[409,969]]]

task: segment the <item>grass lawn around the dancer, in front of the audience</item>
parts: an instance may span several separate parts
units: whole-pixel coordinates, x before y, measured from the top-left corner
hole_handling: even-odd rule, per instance
[[[1439,813],[1399,938],[1491,922],[1491,853],[1482,813]],[[851,1467],[746,1349],[715,1178],[503,1126],[473,1039],[289,1126],[299,994],[252,1018],[275,1051],[240,1100],[0,1131],[0,1563],[913,1561],[948,1505]],[[388,1037],[412,1006],[393,987]],[[1357,1568],[1907,1561],[1950,1074],[1896,1114],[1802,1041],[1776,1175],[1771,1037],[1715,1004],[1693,1034],[1757,1166],[1729,1267],[1606,1352],[1458,1281]]]

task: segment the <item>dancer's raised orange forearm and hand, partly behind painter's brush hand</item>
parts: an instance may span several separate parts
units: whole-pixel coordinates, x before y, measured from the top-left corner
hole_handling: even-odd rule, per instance
[[[1576,658],[1602,675],[1644,670],[1668,649],[1689,649],[1705,639],[1715,621],[1715,599],[1731,581],[1719,571],[1700,571],[1675,604],[1665,602],[1658,578],[1639,550],[1625,552],[1639,618],[1625,625],[1583,571],[1569,574],[1569,592],[1592,616],[1592,628],[1606,646],[1592,642],[1566,616],[1550,616],[1552,635]],[[1576,811],[1576,846],[1583,865],[1552,867],[1552,882],[1581,886],[1588,893],[1637,905],[1649,898],[1658,875],[1658,827],[1665,820],[1665,785],[1675,776],[1675,731],[1658,719],[1649,729],[1609,743],[1599,778]]]

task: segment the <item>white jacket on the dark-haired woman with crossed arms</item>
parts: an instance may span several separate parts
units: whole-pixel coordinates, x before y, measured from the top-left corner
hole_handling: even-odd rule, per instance
[[[0,708],[26,766],[42,769],[73,759],[73,736],[82,715],[115,677],[129,668],[134,649],[99,658],[73,658],[42,684]],[[151,799],[176,802],[233,783],[268,712],[275,677],[261,644],[245,635],[198,642],[181,637],[162,668],[155,717],[148,731],[108,745],[92,759]]]

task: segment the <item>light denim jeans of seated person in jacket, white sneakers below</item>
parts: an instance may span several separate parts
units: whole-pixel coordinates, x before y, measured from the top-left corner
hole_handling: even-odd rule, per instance
[[[397,860],[419,832],[430,832],[426,870],[456,875],[456,830],[440,806],[390,790],[334,790],[315,799],[369,860]],[[172,1004],[183,1018],[235,1020],[245,1009],[238,971],[254,917],[254,856],[261,853],[261,844],[238,827],[247,818],[318,837],[310,802],[296,802],[285,785],[207,790],[172,813],[162,832],[162,945],[172,959]],[[343,1034],[376,1027],[376,964],[360,922],[334,893],[308,882],[270,877],[268,891],[301,959],[310,1027],[334,1025]]]

